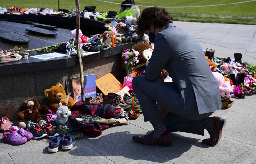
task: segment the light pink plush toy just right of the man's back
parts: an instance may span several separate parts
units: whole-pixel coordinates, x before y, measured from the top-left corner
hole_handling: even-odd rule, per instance
[[[224,76],[218,72],[212,72],[220,89],[220,94],[225,98],[230,98],[231,85],[230,82],[225,81]]]

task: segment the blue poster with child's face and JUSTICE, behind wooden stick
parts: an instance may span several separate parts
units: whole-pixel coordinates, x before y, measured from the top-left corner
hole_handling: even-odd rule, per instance
[[[67,93],[74,99],[74,102],[81,101],[81,80],[80,77],[66,79]],[[95,74],[84,76],[84,98],[91,96],[96,100]]]

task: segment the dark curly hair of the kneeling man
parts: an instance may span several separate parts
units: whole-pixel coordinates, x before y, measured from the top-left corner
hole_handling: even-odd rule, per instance
[[[155,27],[162,28],[168,23],[173,23],[172,17],[169,15],[166,9],[159,7],[149,7],[142,11],[138,20],[135,32],[138,35],[144,34],[144,31],[149,29],[149,25],[152,24]]]

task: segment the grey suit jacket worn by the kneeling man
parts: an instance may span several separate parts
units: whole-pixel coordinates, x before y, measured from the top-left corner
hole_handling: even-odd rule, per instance
[[[202,48],[191,35],[172,23],[156,35],[155,48],[145,70],[146,78],[157,79],[164,67],[173,83],[184,89],[185,108],[196,104],[199,114],[221,108],[220,90]]]

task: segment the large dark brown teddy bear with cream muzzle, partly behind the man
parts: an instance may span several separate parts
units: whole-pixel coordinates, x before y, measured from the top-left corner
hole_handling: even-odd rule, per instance
[[[139,51],[139,53],[140,53],[140,55],[138,57],[139,63],[137,65],[145,63],[145,65],[138,68],[138,70],[144,71],[146,66],[148,65],[148,61],[151,58],[151,55],[153,53],[152,47],[148,43],[140,42],[140,43],[135,44],[132,48],[136,51]],[[162,74],[163,74],[164,79],[167,77],[167,75],[169,75],[169,73],[165,69],[162,70]]]

